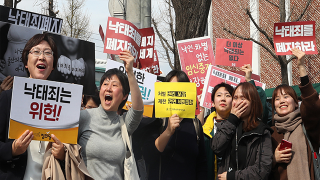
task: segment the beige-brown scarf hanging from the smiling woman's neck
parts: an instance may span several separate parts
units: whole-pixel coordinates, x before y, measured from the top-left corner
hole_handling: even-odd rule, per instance
[[[275,128],[279,133],[284,133],[284,139],[292,143],[291,160],[287,164],[287,178],[291,179],[310,179],[308,169],[308,155],[305,135],[302,130],[302,119],[300,108],[280,117],[275,114]]]

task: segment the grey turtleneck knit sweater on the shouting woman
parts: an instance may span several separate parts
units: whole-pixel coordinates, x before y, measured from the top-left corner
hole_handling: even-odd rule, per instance
[[[123,119],[131,135],[142,119],[143,110],[130,108]],[[90,175],[98,179],[123,179],[126,148],[121,136],[119,115],[97,108],[80,111],[78,144]]]

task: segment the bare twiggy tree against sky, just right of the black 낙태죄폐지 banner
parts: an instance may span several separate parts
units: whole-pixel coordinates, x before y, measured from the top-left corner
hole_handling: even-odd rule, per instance
[[[61,33],[70,37],[87,40],[92,34],[90,15],[83,6],[85,0],[67,0],[63,4],[61,18],[66,25],[62,26]]]

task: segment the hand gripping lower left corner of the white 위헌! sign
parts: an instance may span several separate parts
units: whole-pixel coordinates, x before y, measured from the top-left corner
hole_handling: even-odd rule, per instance
[[[26,151],[31,140],[33,138],[33,132],[29,130],[25,130],[23,134],[15,139],[12,143],[12,156],[17,156]]]

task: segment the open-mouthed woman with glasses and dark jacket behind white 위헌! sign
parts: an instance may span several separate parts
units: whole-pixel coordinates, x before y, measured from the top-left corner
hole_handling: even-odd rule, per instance
[[[56,45],[47,33],[35,34],[24,46],[22,62],[29,78],[46,79],[56,66]],[[41,179],[43,155],[48,142],[32,140],[26,130],[18,139],[8,139],[12,89],[0,95],[0,179]],[[63,144],[53,134],[51,153],[64,160]]]

